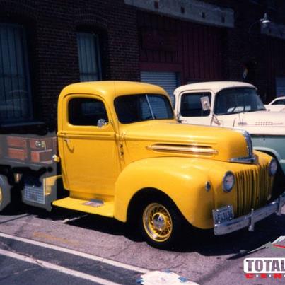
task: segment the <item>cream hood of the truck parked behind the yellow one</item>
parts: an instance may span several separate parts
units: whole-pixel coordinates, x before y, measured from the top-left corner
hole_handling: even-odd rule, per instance
[[[243,128],[250,134],[285,135],[285,114],[269,110],[240,113],[233,127]]]

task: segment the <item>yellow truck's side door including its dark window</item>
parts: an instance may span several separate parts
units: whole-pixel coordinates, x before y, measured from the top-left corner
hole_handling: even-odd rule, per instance
[[[120,164],[115,129],[103,99],[68,95],[64,112],[67,116],[62,117],[63,130],[59,133],[64,186],[79,198],[84,197],[82,193],[88,198],[93,194],[113,195]]]

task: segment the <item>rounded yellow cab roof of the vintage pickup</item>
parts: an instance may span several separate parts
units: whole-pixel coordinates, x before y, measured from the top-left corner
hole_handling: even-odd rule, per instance
[[[168,95],[166,91],[156,85],[133,81],[91,81],[74,83],[66,86],[60,96],[74,93],[100,95],[106,100],[114,100],[120,95],[132,95],[141,93],[155,93]]]

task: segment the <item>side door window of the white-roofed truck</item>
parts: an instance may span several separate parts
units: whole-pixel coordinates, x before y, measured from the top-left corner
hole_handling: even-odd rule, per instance
[[[207,117],[210,115],[210,111],[203,111],[201,104],[201,97],[207,96],[211,103],[211,93],[199,92],[199,93],[186,93],[181,97],[180,114],[182,117]]]

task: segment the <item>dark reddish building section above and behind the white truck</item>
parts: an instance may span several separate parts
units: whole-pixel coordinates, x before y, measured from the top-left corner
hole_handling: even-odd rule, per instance
[[[144,10],[138,12],[138,29],[141,78],[145,81],[163,84],[163,74],[160,80],[156,76],[164,71],[168,83],[175,73],[178,85],[248,81],[257,86],[264,102],[285,94],[284,1],[125,2]],[[268,25],[260,21],[264,13],[270,19]],[[155,72],[146,76],[147,71]],[[171,91],[173,86],[165,88]]]

